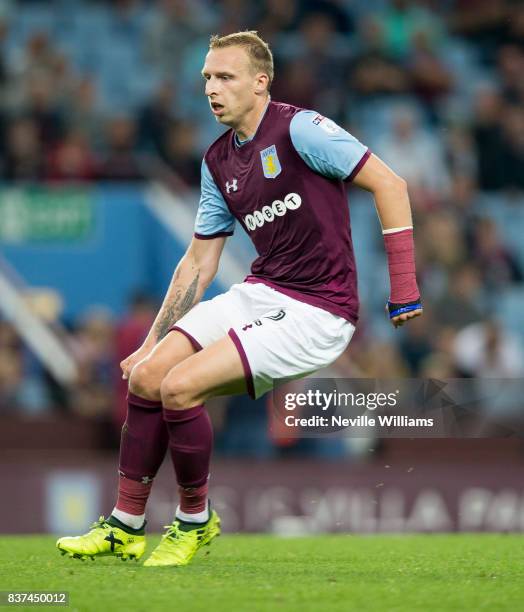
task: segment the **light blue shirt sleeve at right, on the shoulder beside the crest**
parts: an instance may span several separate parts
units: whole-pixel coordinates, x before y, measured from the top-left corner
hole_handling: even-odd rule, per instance
[[[368,148],[334,121],[315,111],[297,113],[289,126],[297,153],[315,172],[332,179],[352,178]]]

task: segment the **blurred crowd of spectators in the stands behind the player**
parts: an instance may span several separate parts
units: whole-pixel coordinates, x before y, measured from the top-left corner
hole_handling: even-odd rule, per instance
[[[273,99],[338,121],[408,181],[425,316],[393,342],[376,330],[370,283],[382,300],[375,263],[384,262],[377,232],[365,261],[357,258],[362,322],[333,370],[522,376],[518,0],[4,0],[0,177],[139,180],[154,159],[197,188],[203,152],[221,132],[200,76],[209,35],[241,29],[258,30],[273,49]],[[358,217],[358,194],[352,197]],[[128,320],[91,312],[74,326],[86,367],[66,402],[71,410],[113,410],[115,389],[123,397],[119,359],[154,312],[142,296]],[[24,368],[26,382],[18,384]],[[2,324],[1,411],[16,403],[27,409],[36,398],[41,406],[56,403],[52,381],[35,368]]]

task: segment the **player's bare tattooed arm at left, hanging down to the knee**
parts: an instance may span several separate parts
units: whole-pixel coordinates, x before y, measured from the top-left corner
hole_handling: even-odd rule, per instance
[[[142,346],[120,364],[127,379],[139,361],[147,357],[173,325],[189,312],[204,295],[218,270],[225,237],[211,240],[193,238],[173,273],[162,306]]]

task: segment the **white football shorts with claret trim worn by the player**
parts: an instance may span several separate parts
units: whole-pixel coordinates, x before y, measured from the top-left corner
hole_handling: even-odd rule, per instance
[[[197,304],[172,329],[197,350],[229,334],[244,366],[247,390],[256,399],[279,381],[307,376],[335,361],[355,326],[263,283],[240,283]]]

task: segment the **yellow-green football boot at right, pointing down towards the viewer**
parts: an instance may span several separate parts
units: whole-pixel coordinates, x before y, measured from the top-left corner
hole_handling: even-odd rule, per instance
[[[220,519],[212,510],[207,523],[185,523],[175,519],[167,525],[160,544],[144,562],[147,567],[187,565],[202,546],[220,535]]]

